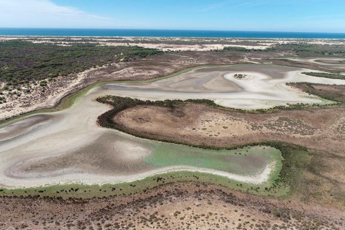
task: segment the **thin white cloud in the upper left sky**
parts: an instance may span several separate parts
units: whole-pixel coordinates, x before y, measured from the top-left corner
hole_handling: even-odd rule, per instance
[[[0,27],[124,28],[142,23],[59,6],[50,0],[0,0]]]

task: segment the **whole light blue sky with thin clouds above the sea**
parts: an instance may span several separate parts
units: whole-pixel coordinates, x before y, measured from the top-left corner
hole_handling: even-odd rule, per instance
[[[0,0],[0,27],[345,32],[345,0]]]

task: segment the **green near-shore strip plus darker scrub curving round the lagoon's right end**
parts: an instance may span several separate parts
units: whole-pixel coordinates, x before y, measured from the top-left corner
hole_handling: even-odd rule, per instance
[[[91,198],[103,196],[121,196],[133,194],[136,192],[146,192],[148,189],[162,186],[168,183],[176,182],[197,182],[200,184],[216,184],[222,187],[245,191],[259,196],[275,196],[288,197],[291,194],[300,192],[300,188],[305,184],[306,179],[303,172],[315,171],[312,159],[315,153],[307,148],[288,144],[284,142],[262,142],[253,143],[252,145],[262,144],[272,146],[280,150],[284,160],[282,168],[270,179],[259,185],[251,183],[238,182],[229,180],[209,173],[199,172],[170,172],[160,174],[159,176],[147,177],[142,180],[119,183],[119,184],[103,184],[85,185],[85,184],[57,184],[54,186],[24,188],[24,189],[0,189],[0,194],[10,196],[40,196],[40,197],[61,197],[61,198]],[[229,147],[230,148],[230,147]],[[233,149],[236,147],[234,146]]]

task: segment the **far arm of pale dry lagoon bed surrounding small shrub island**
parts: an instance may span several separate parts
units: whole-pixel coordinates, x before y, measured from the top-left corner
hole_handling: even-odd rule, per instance
[[[313,70],[315,72],[315,70]],[[286,82],[344,84],[344,80],[306,76],[311,70],[266,64],[197,68],[149,83],[106,84],[111,94],[141,100],[210,99],[238,109],[267,109],[287,103],[329,103],[285,85]],[[318,71],[320,72],[320,71]],[[248,77],[237,79],[235,74]]]

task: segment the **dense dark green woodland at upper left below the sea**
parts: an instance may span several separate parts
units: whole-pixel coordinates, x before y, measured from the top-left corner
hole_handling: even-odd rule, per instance
[[[76,74],[91,67],[129,61],[154,54],[157,49],[138,46],[98,46],[99,43],[32,43],[21,40],[0,42],[0,81],[17,86],[58,76]]]

